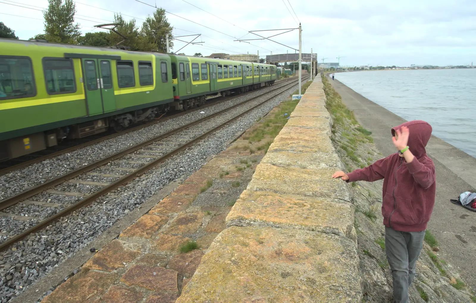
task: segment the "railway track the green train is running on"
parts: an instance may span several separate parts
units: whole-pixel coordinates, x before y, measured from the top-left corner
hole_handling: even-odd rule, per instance
[[[280,81],[275,82],[275,85],[282,84],[282,83],[287,83],[287,82],[292,82],[292,81],[295,81],[295,80],[294,79],[284,79],[284,80],[280,80]],[[269,86],[265,86],[265,87],[269,87]],[[265,87],[263,87],[263,88],[265,88]],[[243,94],[243,95],[248,95],[250,93],[257,92],[257,91],[258,90],[250,91],[250,92],[248,92],[246,94]],[[32,154],[22,156],[20,158],[15,158],[15,159],[7,160],[7,161],[2,161],[2,162],[0,162],[0,176],[2,176],[4,174],[7,174],[11,171],[14,171],[14,170],[19,170],[19,169],[28,167],[28,166],[30,166],[32,164],[35,164],[35,163],[39,163],[39,162],[42,162],[42,161],[45,161],[45,160],[48,160],[48,159],[52,159],[54,157],[60,156],[62,154],[68,153],[68,152],[74,152],[74,151],[77,151],[81,148],[84,148],[84,147],[87,147],[87,146],[90,146],[90,145],[94,145],[94,144],[97,144],[99,142],[106,141],[106,140],[109,140],[109,139],[113,139],[115,137],[124,135],[126,133],[132,133],[132,132],[138,131],[142,128],[145,128],[145,127],[157,124],[157,123],[162,123],[162,122],[167,121],[169,119],[177,118],[177,117],[180,117],[182,115],[185,115],[185,114],[188,114],[188,113],[191,113],[191,112],[195,112],[195,111],[198,111],[198,110],[204,110],[204,109],[206,109],[210,106],[214,106],[216,104],[220,104],[220,103],[226,102],[228,100],[231,100],[233,98],[236,98],[237,96],[241,96],[241,95],[233,95],[233,96],[229,96],[229,97],[220,97],[220,96],[212,97],[212,98],[207,99],[207,103],[200,106],[200,107],[193,108],[193,109],[188,110],[188,111],[183,111],[183,112],[180,112],[178,114],[168,114],[165,117],[162,117],[160,119],[156,119],[156,120],[151,121],[149,123],[142,123],[140,125],[125,129],[125,130],[123,130],[119,133],[109,133],[109,134],[102,133],[102,134],[94,135],[94,136],[91,136],[91,137],[76,139],[74,141],[69,141],[65,145],[57,145],[57,146],[53,147],[52,149],[46,149],[46,150],[42,150],[42,151],[39,151],[39,152],[35,152],[35,153],[32,153]]]

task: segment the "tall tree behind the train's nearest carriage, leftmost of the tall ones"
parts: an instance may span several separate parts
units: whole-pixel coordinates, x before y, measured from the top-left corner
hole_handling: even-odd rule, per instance
[[[74,24],[76,5],[73,0],[48,0],[45,18],[45,38],[50,42],[76,43],[81,36],[79,24]]]

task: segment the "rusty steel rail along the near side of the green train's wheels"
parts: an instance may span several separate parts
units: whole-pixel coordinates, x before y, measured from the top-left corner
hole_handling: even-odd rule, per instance
[[[274,84],[278,84],[278,83],[281,83],[281,82],[292,82],[292,80],[293,79],[280,80],[280,81],[275,82]],[[245,93],[245,95],[247,95],[249,93],[252,93],[252,92],[256,92],[258,90],[249,91],[249,92]],[[156,120],[156,121],[152,121],[152,122],[149,122],[149,123],[144,123],[144,124],[141,124],[141,125],[134,126],[132,128],[123,130],[119,133],[113,133],[113,134],[110,134],[110,135],[106,135],[104,137],[100,137],[100,138],[97,138],[97,139],[94,139],[94,140],[91,140],[91,141],[88,141],[88,142],[80,143],[78,145],[67,147],[67,148],[62,149],[62,150],[57,151],[57,152],[52,152],[52,153],[46,154],[44,156],[40,156],[40,157],[35,158],[35,159],[31,159],[31,160],[28,160],[28,161],[21,162],[19,164],[9,166],[9,167],[4,168],[4,169],[0,169],[0,176],[5,175],[5,174],[7,174],[7,173],[9,173],[13,170],[19,170],[21,168],[25,168],[25,167],[30,166],[32,164],[54,158],[54,157],[60,156],[62,154],[68,153],[68,152],[74,152],[74,151],[77,151],[81,148],[84,148],[84,147],[87,147],[87,146],[90,146],[90,145],[94,145],[94,144],[99,143],[99,142],[103,142],[103,141],[106,141],[106,140],[109,140],[109,139],[113,139],[113,138],[116,138],[118,136],[121,136],[121,135],[124,135],[124,134],[127,134],[127,133],[135,132],[135,131],[138,131],[139,129],[142,129],[142,128],[145,128],[145,127],[157,124],[157,123],[162,123],[164,121],[170,120],[172,118],[177,118],[177,117],[180,117],[182,115],[185,115],[185,114],[188,114],[188,113],[191,113],[191,112],[195,112],[195,111],[198,111],[198,110],[201,110],[201,109],[205,109],[205,108],[208,108],[208,107],[213,106],[215,104],[220,104],[220,103],[226,102],[226,101],[228,101],[230,99],[233,99],[235,97],[238,97],[238,96],[240,96],[240,95],[225,97],[225,98],[222,98],[221,100],[219,100],[218,102],[210,102],[208,104],[204,104],[200,107],[193,108],[191,110],[186,110],[186,111],[180,112],[178,114],[173,114],[173,115],[164,117],[164,118]],[[208,100],[213,100],[213,99],[215,99],[215,98],[211,98],[211,99],[208,99]]]

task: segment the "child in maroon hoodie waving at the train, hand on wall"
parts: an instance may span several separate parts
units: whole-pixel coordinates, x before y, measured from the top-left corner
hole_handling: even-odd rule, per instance
[[[435,205],[435,164],[425,150],[431,131],[425,121],[403,123],[392,128],[397,153],[361,170],[332,175],[347,182],[384,179],[382,215],[394,303],[408,303],[408,287],[415,277],[426,224]]]

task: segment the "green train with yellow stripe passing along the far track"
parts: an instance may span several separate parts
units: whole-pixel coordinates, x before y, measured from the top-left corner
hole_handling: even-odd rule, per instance
[[[275,80],[268,64],[0,38],[0,161]]]

